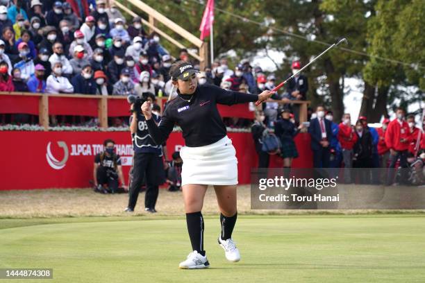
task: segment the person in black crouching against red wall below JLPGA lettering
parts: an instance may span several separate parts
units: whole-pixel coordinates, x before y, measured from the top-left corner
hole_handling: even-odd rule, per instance
[[[94,191],[115,194],[118,191],[118,178],[124,191],[128,190],[122,174],[121,157],[114,152],[114,146],[115,141],[106,139],[103,141],[104,151],[94,157]]]

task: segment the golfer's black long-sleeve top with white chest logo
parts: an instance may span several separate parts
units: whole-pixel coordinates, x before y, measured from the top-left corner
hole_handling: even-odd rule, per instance
[[[153,119],[147,120],[147,126],[156,144],[163,144],[177,124],[183,131],[186,146],[206,146],[227,134],[217,104],[251,101],[258,101],[258,95],[226,91],[215,85],[199,85],[194,94],[178,94],[165,108],[158,126]]]

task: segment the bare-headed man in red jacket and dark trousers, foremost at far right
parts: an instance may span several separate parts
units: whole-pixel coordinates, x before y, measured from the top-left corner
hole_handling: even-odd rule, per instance
[[[400,166],[403,168],[401,169],[401,180],[402,182],[407,180],[407,171],[404,168],[408,166],[409,125],[404,119],[405,113],[403,108],[397,108],[397,119],[392,120],[385,131],[385,144],[390,148],[387,185],[391,185],[394,182],[394,167],[399,160]]]

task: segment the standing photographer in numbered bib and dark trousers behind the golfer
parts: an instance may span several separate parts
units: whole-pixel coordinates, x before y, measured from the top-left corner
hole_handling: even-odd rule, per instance
[[[153,103],[153,94],[144,92],[142,102]],[[136,105],[136,106],[135,106]],[[130,117],[130,131],[133,140],[133,181],[128,193],[128,206],[126,212],[133,212],[138,201],[140,187],[146,180],[146,194],[144,196],[144,210],[155,213],[156,200],[158,199],[159,185],[165,182],[163,165],[163,148],[153,141],[147,128],[147,122],[140,112],[138,103],[131,105],[133,114]],[[139,109],[139,110],[138,110]],[[153,123],[159,123],[160,117],[153,114]]]

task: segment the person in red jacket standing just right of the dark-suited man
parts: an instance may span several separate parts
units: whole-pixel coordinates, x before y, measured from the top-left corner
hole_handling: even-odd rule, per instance
[[[338,126],[338,141],[342,148],[342,160],[344,160],[344,182],[351,183],[351,168],[353,167],[353,146],[358,139],[351,125],[351,116],[345,113],[342,122]]]

